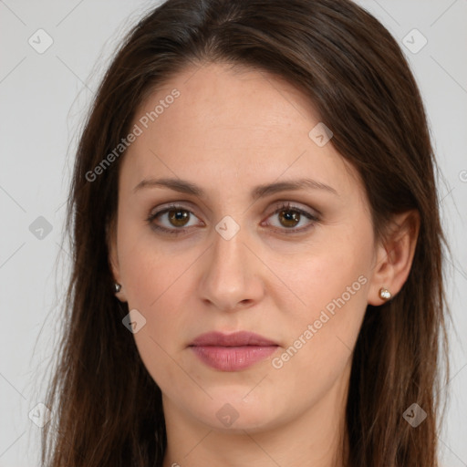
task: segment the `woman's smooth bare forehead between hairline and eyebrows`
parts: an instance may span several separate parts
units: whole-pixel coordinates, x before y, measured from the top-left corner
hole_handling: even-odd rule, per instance
[[[355,171],[332,144],[310,138],[319,123],[309,99],[285,80],[226,64],[188,67],[137,110],[140,136],[121,170],[133,186],[162,173],[223,190],[298,175],[351,188]]]

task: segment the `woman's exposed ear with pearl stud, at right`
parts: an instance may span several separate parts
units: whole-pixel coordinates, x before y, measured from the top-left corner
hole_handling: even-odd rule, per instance
[[[400,292],[409,277],[415,246],[420,231],[420,214],[415,211],[400,213],[393,217],[388,232],[376,248],[376,264],[368,289],[368,304],[379,306],[385,303],[379,296],[381,287],[392,296]]]

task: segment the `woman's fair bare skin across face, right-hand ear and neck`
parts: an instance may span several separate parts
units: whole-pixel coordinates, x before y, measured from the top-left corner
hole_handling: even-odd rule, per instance
[[[146,319],[134,338],[163,395],[164,467],[341,465],[358,330],[367,305],[383,303],[379,288],[394,295],[405,282],[417,216],[400,214],[388,238],[375,238],[358,173],[332,140],[319,147],[310,139],[319,117],[283,80],[226,64],[189,67],[153,92],[133,123],[173,88],[180,97],[122,161],[109,245],[113,275],[122,285],[117,296]],[[142,180],[167,177],[199,185],[205,196],[158,186],[134,190]],[[251,198],[257,185],[304,177],[336,192],[303,188]],[[147,221],[169,202],[189,212],[185,233],[161,233]],[[275,213],[281,202],[317,221],[301,215],[294,227]],[[240,227],[229,240],[215,230],[227,215]],[[167,213],[152,223],[183,228]],[[287,233],[301,227],[308,228]],[[275,368],[273,358],[358,277],[365,284]],[[250,330],[279,347],[250,368],[223,372],[188,348],[212,330]],[[238,415],[229,427],[216,417],[226,403]]]

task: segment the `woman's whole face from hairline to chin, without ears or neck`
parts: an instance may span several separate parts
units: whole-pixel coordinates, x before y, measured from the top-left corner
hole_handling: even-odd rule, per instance
[[[284,425],[348,382],[375,239],[305,102],[263,72],[187,68],[138,109],[120,167],[111,262],[140,357],[164,410],[218,430]],[[213,331],[264,340],[192,346]]]

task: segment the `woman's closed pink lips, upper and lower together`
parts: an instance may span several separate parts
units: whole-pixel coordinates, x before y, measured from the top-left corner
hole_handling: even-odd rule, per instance
[[[269,357],[279,346],[258,334],[240,331],[233,334],[202,334],[189,347],[196,357],[211,368],[240,371]]]

